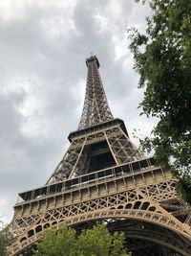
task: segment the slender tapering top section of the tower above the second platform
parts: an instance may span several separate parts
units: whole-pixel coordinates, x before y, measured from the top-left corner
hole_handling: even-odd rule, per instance
[[[96,56],[87,58],[86,65],[88,67],[86,95],[78,129],[89,128],[114,119],[98,72],[98,58]]]

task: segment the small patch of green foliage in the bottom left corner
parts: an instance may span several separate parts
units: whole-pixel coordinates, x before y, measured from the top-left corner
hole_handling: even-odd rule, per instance
[[[7,247],[12,240],[11,233],[9,231],[9,227],[3,224],[3,221],[0,221],[2,228],[0,229],[0,255],[7,255]]]

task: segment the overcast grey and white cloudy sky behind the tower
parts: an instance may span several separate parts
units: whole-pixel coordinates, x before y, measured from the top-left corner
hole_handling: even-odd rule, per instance
[[[43,185],[79,122],[93,52],[115,117],[132,137],[140,117],[138,74],[125,28],[145,28],[134,0],[0,0],[0,216],[11,221],[17,194]]]

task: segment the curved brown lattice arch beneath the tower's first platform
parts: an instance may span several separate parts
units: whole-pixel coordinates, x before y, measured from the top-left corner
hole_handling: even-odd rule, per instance
[[[158,187],[161,187],[161,184],[159,184]],[[168,185],[166,185],[166,190],[168,190]],[[10,255],[17,255],[15,252],[20,253],[22,250],[38,241],[43,230],[49,226],[59,228],[60,223],[63,221],[66,221],[72,225],[80,222],[94,221],[99,219],[127,219],[136,220],[139,222],[148,222],[154,226],[157,225],[162,227],[164,231],[166,230],[166,233],[171,231],[184,238],[188,245],[187,248],[184,247],[185,252],[183,252],[182,255],[189,255],[186,250],[191,248],[190,227],[173,217],[170,213],[159,206],[158,202],[151,200],[145,194],[143,194],[140,189],[127,190],[126,192],[121,193],[116,192],[113,195],[105,197],[100,197],[100,191],[98,194],[99,197],[96,197],[95,199],[93,199],[92,195],[90,194],[89,198],[92,199],[89,200],[82,200],[79,203],[74,203],[73,200],[73,203],[68,202],[68,205],[65,204],[59,208],[54,206],[52,210],[49,210],[48,207],[47,210],[44,211],[45,214],[39,216],[36,221],[33,221],[33,223],[30,224],[24,230],[24,232],[17,237],[13,247],[11,248]],[[103,194],[105,193],[103,192]],[[23,214],[26,215],[26,213]],[[140,236],[138,238],[140,238]],[[147,236],[147,240],[153,242],[157,241],[158,238],[159,235],[155,236],[154,233],[153,237],[150,239]],[[170,243],[168,244],[169,247],[172,248],[172,245]],[[177,251],[180,252],[180,247],[178,244],[176,246],[173,248],[177,248]]]

